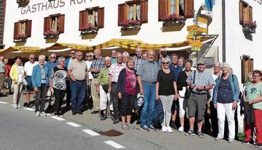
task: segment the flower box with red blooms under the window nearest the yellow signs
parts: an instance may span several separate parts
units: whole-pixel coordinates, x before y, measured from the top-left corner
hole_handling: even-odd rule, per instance
[[[163,26],[172,26],[172,25],[185,25],[185,17],[180,16],[179,14],[169,14],[165,17],[162,17]]]

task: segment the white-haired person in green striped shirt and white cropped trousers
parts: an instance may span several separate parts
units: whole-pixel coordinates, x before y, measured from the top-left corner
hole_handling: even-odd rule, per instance
[[[109,93],[109,68],[111,66],[111,58],[106,56],[104,58],[104,64],[106,67],[103,67],[100,70],[100,74],[98,76],[98,85],[97,85],[97,92],[100,93],[100,111],[101,111],[101,120],[106,119],[106,108],[107,104],[110,103],[110,110],[113,111],[113,104],[110,100],[110,93]]]

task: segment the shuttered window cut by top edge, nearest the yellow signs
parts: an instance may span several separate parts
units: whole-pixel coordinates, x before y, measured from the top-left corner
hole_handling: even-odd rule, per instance
[[[158,21],[170,14],[194,17],[194,0],[158,0]]]

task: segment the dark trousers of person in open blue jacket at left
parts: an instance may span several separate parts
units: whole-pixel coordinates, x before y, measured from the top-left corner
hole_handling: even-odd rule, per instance
[[[47,86],[46,83],[42,83],[41,87],[37,87],[38,91],[36,92],[36,98],[35,98],[35,112],[39,111],[40,106],[40,112],[44,111],[45,103],[46,103],[46,92],[47,92]]]

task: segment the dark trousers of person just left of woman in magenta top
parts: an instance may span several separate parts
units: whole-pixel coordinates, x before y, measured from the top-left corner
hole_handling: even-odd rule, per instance
[[[113,102],[113,116],[119,118],[119,99],[117,92],[117,84],[111,83],[111,93],[110,93],[111,102]]]

